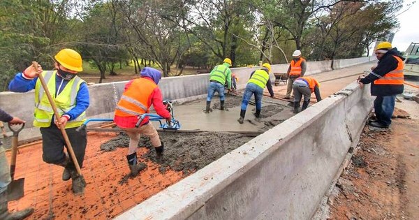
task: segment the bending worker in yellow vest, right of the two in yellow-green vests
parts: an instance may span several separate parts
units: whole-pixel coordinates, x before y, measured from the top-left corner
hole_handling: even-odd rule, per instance
[[[260,118],[260,110],[262,110],[262,96],[263,96],[263,89],[267,87],[267,90],[270,93],[270,96],[274,97],[274,90],[272,89],[272,85],[269,78],[269,73],[271,71],[270,64],[263,64],[261,69],[253,71],[250,75],[249,81],[247,81],[246,89],[244,90],[243,100],[242,100],[242,108],[240,110],[240,119],[237,121],[240,124],[243,124],[244,115],[246,115],[246,108],[247,104],[251,96],[254,94],[255,102],[256,102],[256,118]]]

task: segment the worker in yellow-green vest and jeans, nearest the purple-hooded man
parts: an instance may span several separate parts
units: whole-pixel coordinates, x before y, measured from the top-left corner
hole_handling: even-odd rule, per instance
[[[220,96],[220,110],[224,110],[224,85],[227,83],[227,89],[231,89],[231,59],[226,58],[223,64],[215,66],[210,73],[210,85],[208,86],[207,106],[205,113],[210,113],[212,96],[215,91]]]

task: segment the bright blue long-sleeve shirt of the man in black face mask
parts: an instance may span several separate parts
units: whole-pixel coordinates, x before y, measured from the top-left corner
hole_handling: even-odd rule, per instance
[[[32,89],[35,89],[36,80],[38,80],[38,77],[34,79],[28,79],[24,78],[22,73],[17,73],[15,75],[15,78],[13,78],[12,82],[10,82],[8,89],[10,91],[15,92],[31,91]],[[58,94],[60,94],[61,91],[63,91],[64,87],[66,87],[68,82],[68,80],[64,80],[59,75],[57,75],[55,78],[55,90],[57,91],[57,94],[51,95],[57,96]],[[89,89],[87,88],[87,84],[85,82],[82,82],[78,94],[75,97],[75,107],[69,110],[68,112],[65,112],[64,115],[67,115],[69,117],[68,120],[75,119],[79,117],[82,114],[82,112],[87,110],[87,108],[89,107],[89,103]]]

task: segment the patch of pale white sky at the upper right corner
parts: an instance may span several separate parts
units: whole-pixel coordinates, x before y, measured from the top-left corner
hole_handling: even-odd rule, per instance
[[[405,0],[404,8],[400,11],[406,10],[408,3],[414,0]],[[400,22],[399,31],[395,33],[395,38],[392,41],[392,46],[397,47],[399,51],[405,51],[409,45],[419,43],[419,1],[413,4],[409,10],[397,16]]]

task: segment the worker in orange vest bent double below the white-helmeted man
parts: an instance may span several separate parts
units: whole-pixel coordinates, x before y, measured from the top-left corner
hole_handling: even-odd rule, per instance
[[[302,111],[304,111],[309,106],[311,93],[314,92],[317,102],[321,101],[320,89],[318,89],[318,87],[320,87],[320,84],[314,78],[303,76],[295,79],[293,83],[294,113],[300,112],[300,101],[302,96],[304,96],[304,101],[302,102],[301,108]]]

